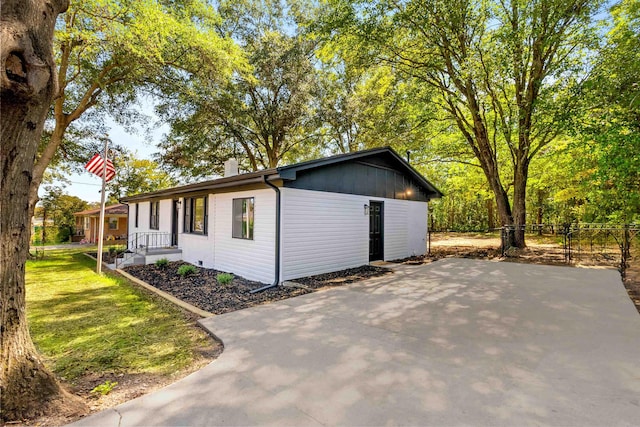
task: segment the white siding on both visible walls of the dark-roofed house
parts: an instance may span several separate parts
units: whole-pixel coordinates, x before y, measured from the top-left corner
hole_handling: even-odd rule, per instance
[[[328,273],[369,263],[369,216],[365,205],[384,203],[384,259],[421,255],[426,250],[427,204],[352,194],[280,188],[280,280]],[[233,199],[254,198],[253,240],[233,238]],[[271,189],[209,194],[208,234],[180,232],[183,260],[227,271],[249,280],[271,283],[275,273],[276,194]],[[133,233],[148,229],[149,202],[140,203],[139,227],[130,216]],[[172,200],[160,201],[158,232],[170,235]],[[183,230],[184,199],[178,214]]]

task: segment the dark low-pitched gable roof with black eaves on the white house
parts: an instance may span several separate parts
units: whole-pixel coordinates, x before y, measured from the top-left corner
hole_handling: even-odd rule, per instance
[[[369,150],[356,151],[353,153],[338,154],[335,156],[324,157],[316,160],[309,160],[301,163],[295,163],[287,166],[280,166],[277,168],[263,169],[256,172],[243,173],[239,175],[218,178],[195,184],[187,184],[179,187],[168,188],[165,190],[158,190],[149,193],[137,194],[134,196],[123,197],[120,201],[124,203],[137,202],[150,199],[158,199],[170,196],[181,196],[188,193],[214,191],[223,188],[242,187],[246,185],[255,185],[264,183],[265,180],[275,181],[295,181],[299,172],[309,171],[313,169],[320,169],[330,165],[336,165],[340,163],[350,161],[362,161],[368,158],[374,158],[377,156],[386,156],[393,162],[394,166],[403,173],[410,176],[415,180],[425,194],[429,195],[429,198],[439,198],[443,194],[433,184],[431,184],[425,177],[423,177],[418,171],[416,171],[409,163],[407,163],[398,153],[396,153],[391,147],[372,148]]]

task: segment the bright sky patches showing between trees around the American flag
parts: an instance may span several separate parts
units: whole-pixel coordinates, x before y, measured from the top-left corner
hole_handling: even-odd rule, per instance
[[[152,108],[151,106],[145,106],[143,113],[151,116],[151,120],[157,120]],[[136,152],[136,157],[141,159],[151,159],[153,153],[157,151],[156,144],[160,142],[164,134],[169,132],[168,125],[160,125],[154,128],[151,133],[151,138],[149,138],[148,135],[145,134],[146,130],[143,126],[138,128],[137,133],[131,134],[108,116],[105,117],[105,122],[110,128],[108,134],[111,142],[123,145],[132,152]],[[147,142],[149,139],[153,142]],[[89,161],[89,159],[87,159],[87,161]],[[116,165],[116,174],[117,173],[118,169]],[[86,202],[100,202],[100,188],[102,186],[100,177],[83,171],[80,174],[71,174],[67,178],[71,181],[71,184],[56,183],[64,188],[65,193],[71,196],[77,196]],[[44,185],[41,185],[38,191],[41,198],[44,195],[44,187]]]

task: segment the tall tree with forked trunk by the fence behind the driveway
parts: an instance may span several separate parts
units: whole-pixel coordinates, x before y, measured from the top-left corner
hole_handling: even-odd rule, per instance
[[[523,247],[529,165],[575,108],[570,90],[599,3],[329,0],[319,28],[438,92],[433,101],[482,168],[500,221],[515,227],[510,244]]]

